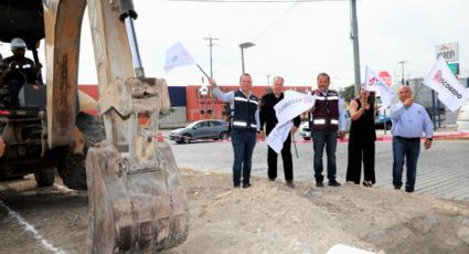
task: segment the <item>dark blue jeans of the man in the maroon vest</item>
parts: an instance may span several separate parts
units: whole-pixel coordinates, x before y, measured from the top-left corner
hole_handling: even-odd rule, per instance
[[[322,182],[324,177],[322,176],[322,154],[324,151],[328,155],[328,179],[329,181],[335,181],[335,148],[337,148],[337,131],[326,130],[312,130],[312,148],[315,150],[315,178],[317,182]]]

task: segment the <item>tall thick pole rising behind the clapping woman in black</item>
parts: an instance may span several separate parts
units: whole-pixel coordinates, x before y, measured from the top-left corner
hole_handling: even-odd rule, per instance
[[[359,47],[359,22],[356,21],[356,0],[350,0],[350,23],[352,31],[350,39],[353,42],[353,68],[355,72],[355,96],[360,93],[360,47]]]

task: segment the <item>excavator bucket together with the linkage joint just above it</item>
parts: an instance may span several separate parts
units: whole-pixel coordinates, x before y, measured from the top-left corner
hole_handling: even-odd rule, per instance
[[[88,253],[157,252],[182,243],[189,231],[185,190],[171,148],[158,142],[158,113],[169,109],[166,82],[128,78],[121,85],[132,96],[134,118],[124,121],[128,152],[104,140],[86,158]]]

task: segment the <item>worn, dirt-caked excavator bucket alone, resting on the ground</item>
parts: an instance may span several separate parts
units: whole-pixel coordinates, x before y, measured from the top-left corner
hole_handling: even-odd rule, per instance
[[[185,190],[167,142],[152,168],[138,168],[107,141],[88,151],[88,253],[160,251],[188,236]]]

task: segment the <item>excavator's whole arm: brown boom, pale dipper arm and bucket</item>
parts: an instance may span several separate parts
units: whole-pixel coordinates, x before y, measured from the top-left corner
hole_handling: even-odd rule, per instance
[[[159,251],[188,235],[189,208],[172,151],[158,142],[164,80],[145,77],[129,0],[44,1],[47,140],[74,142],[79,31],[87,6],[106,139],[86,159],[89,253]],[[52,84],[52,85],[51,85]]]

